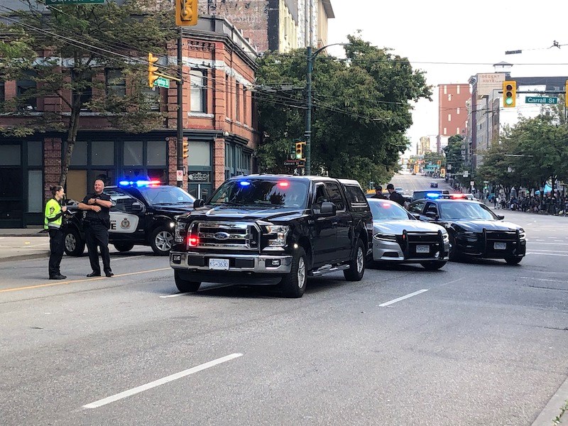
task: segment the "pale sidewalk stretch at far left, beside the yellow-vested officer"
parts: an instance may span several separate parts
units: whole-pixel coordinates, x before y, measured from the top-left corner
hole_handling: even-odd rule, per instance
[[[46,258],[49,235],[41,228],[0,229],[0,262]]]

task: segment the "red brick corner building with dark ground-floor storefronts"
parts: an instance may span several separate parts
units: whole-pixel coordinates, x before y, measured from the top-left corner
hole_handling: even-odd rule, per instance
[[[189,158],[182,186],[197,197],[207,197],[229,176],[253,171],[259,140],[251,97],[256,55],[241,32],[219,16],[200,16],[197,26],[184,30],[183,75],[190,84],[183,84],[183,137],[189,143]],[[175,42],[168,45],[168,58],[160,58],[161,65],[168,62],[177,62]],[[107,90],[126,93],[128,82],[116,79],[113,72],[104,70],[94,78],[106,82]],[[18,96],[30,84],[31,80],[0,83],[0,102]],[[102,114],[81,112],[67,197],[82,199],[97,177],[109,185],[121,178],[148,177],[176,184],[175,82],[170,89],[148,89],[148,95],[155,97],[156,109],[168,113],[163,129],[125,133],[112,129]],[[89,96],[96,97],[96,90]],[[67,108],[57,97],[32,103],[34,114],[65,113]],[[0,126],[12,126],[14,120],[2,114]],[[55,131],[0,139],[0,228],[43,224],[43,205],[50,197],[49,186],[59,180],[64,145],[65,133]]]

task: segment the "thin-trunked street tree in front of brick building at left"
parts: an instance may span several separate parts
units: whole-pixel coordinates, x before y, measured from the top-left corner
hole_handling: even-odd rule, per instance
[[[23,3],[26,8],[11,11],[6,21],[9,31],[20,34],[20,49],[28,55],[35,51],[37,60],[12,62],[17,66],[12,68],[11,75],[27,76],[35,82],[35,87],[6,102],[4,111],[11,111],[18,124],[0,131],[18,135],[65,131],[59,181],[65,185],[82,109],[105,116],[115,129],[133,133],[163,126],[163,114],[151,111],[155,100],[144,90],[145,57],[148,52],[164,53],[168,40],[175,38],[168,29],[173,28],[170,17],[173,14],[149,12],[154,7],[149,0],[127,0],[120,5],[114,1],[60,5],[48,9],[43,1]],[[10,45],[13,40],[16,38],[9,40]],[[4,68],[4,63],[0,66]],[[116,78],[129,82],[129,91],[107,93],[104,79],[100,79],[105,70],[116,70]],[[94,93],[98,96],[89,99]],[[30,99],[41,97],[58,98],[63,107],[58,111],[43,111],[39,116],[21,108]]]

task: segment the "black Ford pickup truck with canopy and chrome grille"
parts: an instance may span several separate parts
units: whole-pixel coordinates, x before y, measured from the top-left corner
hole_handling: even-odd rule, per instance
[[[373,222],[355,180],[249,175],[177,217],[170,266],[180,292],[201,283],[273,285],[302,297],[307,277],[363,278]]]

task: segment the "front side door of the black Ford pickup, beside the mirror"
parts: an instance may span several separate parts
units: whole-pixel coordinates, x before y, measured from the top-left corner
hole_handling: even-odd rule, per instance
[[[312,229],[312,244],[314,252],[314,266],[317,268],[322,265],[332,263],[336,250],[337,230],[332,223],[335,217],[320,216],[322,202],[330,202],[331,199],[323,182],[318,182],[312,192],[312,213],[314,217],[314,227]]]

